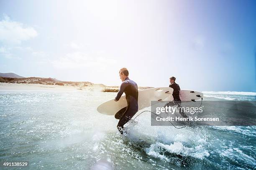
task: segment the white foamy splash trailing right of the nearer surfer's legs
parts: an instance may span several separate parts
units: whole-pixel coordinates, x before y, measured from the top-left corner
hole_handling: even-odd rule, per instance
[[[125,129],[128,130],[128,140],[133,143],[139,143],[143,140],[144,143],[150,145],[150,147],[145,148],[148,155],[167,162],[170,159],[165,154],[162,154],[162,149],[169,153],[191,156],[198,159],[203,159],[210,155],[204,148],[207,145],[206,138],[203,135],[204,133],[188,128],[176,130],[173,126],[150,126],[150,121],[141,122],[145,117],[150,119],[150,114],[141,116],[138,120],[138,125],[128,123]],[[189,143],[189,146],[186,143]]]

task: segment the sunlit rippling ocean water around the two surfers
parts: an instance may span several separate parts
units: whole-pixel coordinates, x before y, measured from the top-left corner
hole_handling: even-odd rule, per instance
[[[118,120],[96,110],[115,95],[1,91],[0,161],[28,160],[26,169],[31,170],[256,169],[256,126],[176,129],[151,126],[150,113],[144,113],[122,136]],[[255,97],[256,93],[205,92],[204,100]]]

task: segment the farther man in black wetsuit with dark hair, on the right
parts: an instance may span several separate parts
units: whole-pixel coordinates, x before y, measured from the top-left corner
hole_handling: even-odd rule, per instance
[[[180,87],[179,85],[175,82],[176,78],[175,77],[170,77],[170,85],[169,87],[173,88],[173,92],[172,92],[172,96],[173,96],[173,101],[171,102],[168,102],[165,106],[174,106],[174,105],[177,105],[178,107],[178,110],[179,110],[179,114],[182,115],[182,117],[185,117],[187,118],[187,115],[183,112],[182,109],[179,109],[181,108],[181,100],[179,98],[179,90],[180,90]],[[164,106],[164,107],[165,107]]]

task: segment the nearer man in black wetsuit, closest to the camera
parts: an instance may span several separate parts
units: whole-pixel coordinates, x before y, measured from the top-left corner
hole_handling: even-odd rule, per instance
[[[127,123],[138,111],[138,85],[133,80],[130,80],[129,72],[126,68],[121,68],[119,71],[120,79],[122,83],[120,90],[115,97],[115,101],[118,101],[125,92],[125,99],[127,101],[127,107],[124,107],[118,113],[115,118],[120,119],[117,128],[121,134],[123,134],[123,125]]]

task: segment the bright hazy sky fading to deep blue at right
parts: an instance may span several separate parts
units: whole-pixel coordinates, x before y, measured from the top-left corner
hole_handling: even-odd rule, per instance
[[[255,0],[0,0],[0,72],[256,92]]]

